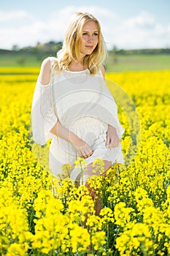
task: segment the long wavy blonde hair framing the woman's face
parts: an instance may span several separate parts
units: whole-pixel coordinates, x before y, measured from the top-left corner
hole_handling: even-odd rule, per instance
[[[89,13],[76,12],[72,17],[63,41],[63,48],[57,53],[57,61],[55,62],[55,70],[62,72],[68,69],[72,61],[76,61],[80,54],[80,37],[82,26],[88,21],[93,21],[98,27],[98,44],[93,53],[86,55],[82,59],[82,65],[90,70],[90,75],[96,75],[106,58],[106,48],[104,37],[101,34],[101,26],[98,20]]]

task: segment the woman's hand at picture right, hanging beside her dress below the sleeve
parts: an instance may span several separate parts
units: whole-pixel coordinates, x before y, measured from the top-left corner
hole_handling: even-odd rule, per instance
[[[106,147],[116,148],[119,145],[119,143],[120,143],[120,138],[118,138],[117,136],[115,127],[112,127],[111,125],[108,124]]]

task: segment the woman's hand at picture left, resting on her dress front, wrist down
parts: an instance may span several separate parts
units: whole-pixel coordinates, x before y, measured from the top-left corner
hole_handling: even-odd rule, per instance
[[[76,148],[80,156],[84,158],[88,158],[93,154],[93,150],[90,148],[88,143],[85,143],[84,140],[78,138],[77,136],[74,136],[74,138],[72,139],[72,145],[74,146],[74,148]]]

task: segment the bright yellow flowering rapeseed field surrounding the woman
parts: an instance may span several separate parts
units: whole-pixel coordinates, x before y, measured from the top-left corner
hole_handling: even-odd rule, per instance
[[[170,255],[170,71],[106,75],[125,164],[89,181],[101,217],[85,186],[55,178],[35,154],[50,145],[34,150],[31,138],[39,69],[0,72],[0,255]],[[85,169],[83,159],[76,165]],[[102,170],[102,159],[94,165]]]

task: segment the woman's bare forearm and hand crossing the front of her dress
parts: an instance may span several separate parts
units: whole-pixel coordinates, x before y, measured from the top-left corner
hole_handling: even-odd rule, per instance
[[[93,154],[93,150],[90,148],[90,146],[87,143],[85,143],[84,140],[80,139],[73,132],[69,131],[69,129],[66,129],[65,127],[63,127],[63,125],[59,121],[50,130],[50,132],[62,138],[63,140],[66,140],[69,143],[72,143],[74,148],[77,149],[80,156],[87,158]]]

